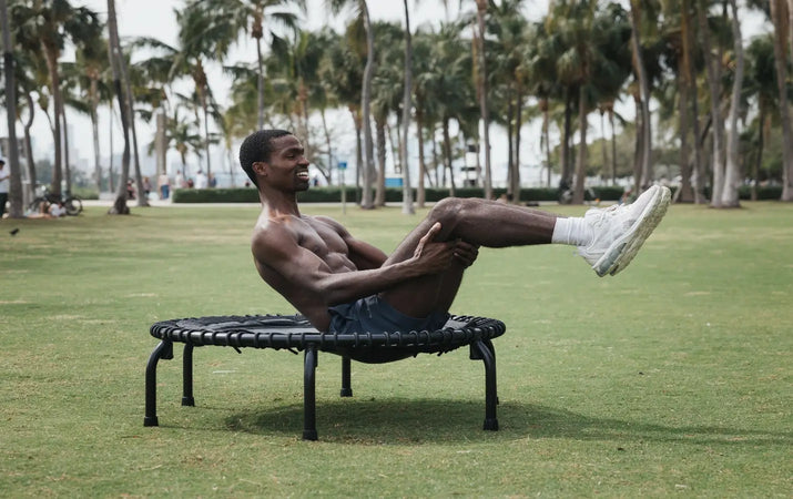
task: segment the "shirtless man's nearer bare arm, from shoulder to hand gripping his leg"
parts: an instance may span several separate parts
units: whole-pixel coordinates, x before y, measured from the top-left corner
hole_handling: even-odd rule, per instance
[[[363,298],[423,275],[447,269],[455,258],[455,243],[429,244],[440,224],[421,238],[413,257],[379,268],[333,272],[325,261],[297,244],[295,235],[282,224],[271,224],[254,236],[252,251],[256,263],[277,273],[286,283],[338,305]],[[366,245],[368,246],[368,245]]]

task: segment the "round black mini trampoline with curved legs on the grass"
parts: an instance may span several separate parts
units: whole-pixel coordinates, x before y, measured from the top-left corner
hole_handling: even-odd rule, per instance
[[[506,330],[502,322],[471,316],[451,316],[438,330],[407,333],[323,334],[302,315],[210,316],[163,320],[152,325],[151,335],[160,339],[146,366],[144,426],[157,426],[156,366],[173,358],[173,343],[184,344],[182,368],[182,405],[194,406],[193,348],[224,346],[273,348],[304,352],[303,439],[316,440],[315,373],[319,352],[342,357],[342,393],[350,397],[350,361],[383,364],[418,354],[445,354],[462,346],[470,347],[470,358],[485,364],[485,425],[497,430],[496,350],[491,339]]]

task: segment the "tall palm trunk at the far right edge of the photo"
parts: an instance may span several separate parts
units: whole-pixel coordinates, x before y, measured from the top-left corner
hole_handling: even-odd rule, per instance
[[[782,121],[782,201],[793,201],[793,141],[791,138],[791,116],[787,103],[787,58],[785,57],[786,32],[784,30],[784,7],[781,0],[771,0],[771,20],[774,24],[774,65],[776,85],[780,93],[780,116]],[[790,9],[793,11],[793,9]]]

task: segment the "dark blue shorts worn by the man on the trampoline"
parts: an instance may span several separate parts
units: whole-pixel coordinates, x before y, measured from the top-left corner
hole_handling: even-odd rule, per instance
[[[449,319],[446,312],[434,312],[428,317],[409,317],[379,296],[368,296],[353,303],[328,308],[328,333],[409,333],[411,330],[437,330]]]

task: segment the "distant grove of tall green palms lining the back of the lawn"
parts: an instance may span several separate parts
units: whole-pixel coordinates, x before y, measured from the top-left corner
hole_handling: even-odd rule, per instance
[[[91,119],[92,182],[115,193],[119,214],[129,213],[129,179],[143,192],[145,151],[157,173],[169,150],[212,173],[220,166],[211,147],[233,157],[234,144],[262,128],[294,131],[334,183],[339,131],[328,130],[326,113],[339,110],[349,116],[344,133],[357,139],[363,207],[385,203],[387,155],[403,176],[407,213],[425,203],[426,186],[454,195],[464,185],[466,152],[478,152],[476,165],[466,162],[468,185],[491,198],[495,129],[508,138],[508,164],[499,167],[514,202],[527,162],[545,166],[549,186],[553,172],[552,186],[569,189],[572,203],[583,202],[593,176],[630,179],[633,192],[665,177],[679,185],[677,201],[714,207],[739,206],[742,186],[755,195],[760,185],[781,185],[781,198],[793,201],[793,0],[549,0],[539,21],[527,19],[529,1],[460,0],[456,18],[434,24],[410,18],[417,0],[403,0],[399,22],[373,21],[372,0],[326,0],[346,19],[343,32],[303,30],[305,0],[185,0],[173,9],[174,45],[120,40],[114,0],[101,14],[78,3],[0,0],[12,217],[23,216],[23,189],[34,184],[23,181],[38,179],[35,120],[52,131],[50,191],[71,190],[74,113]],[[748,37],[743,12],[764,16],[772,29]],[[245,38],[256,55],[230,60]],[[224,103],[207,78],[217,64],[233,82]],[[115,172],[100,164],[102,106],[114,109],[123,131]],[[154,136],[136,132],[141,120]],[[526,140],[540,144],[541,157],[521,157]]]

